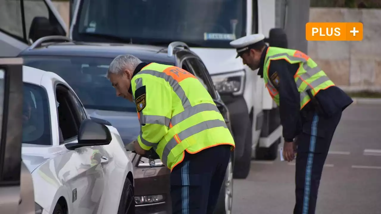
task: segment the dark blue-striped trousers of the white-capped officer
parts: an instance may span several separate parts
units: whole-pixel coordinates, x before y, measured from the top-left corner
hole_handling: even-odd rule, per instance
[[[302,131],[296,139],[294,214],[314,214],[317,193],[333,134],[341,118],[339,110],[331,117],[313,109],[301,110]]]

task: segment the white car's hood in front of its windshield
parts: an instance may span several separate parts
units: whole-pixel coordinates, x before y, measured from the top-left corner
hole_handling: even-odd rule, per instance
[[[21,158],[30,173],[32,173],[38,166],[61,151],[62,148],[51,147],[50,145],[22,144]]]

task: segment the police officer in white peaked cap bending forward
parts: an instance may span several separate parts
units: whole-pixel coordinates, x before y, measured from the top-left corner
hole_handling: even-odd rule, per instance
[[[267,46],[262,34],[230,44],[243,64],[259,69],[258,75],[279,105],[285,160],[294,159],[297,146],[294,214],[313,214],[333,134],[342,111],[353,101],[301,51]]]

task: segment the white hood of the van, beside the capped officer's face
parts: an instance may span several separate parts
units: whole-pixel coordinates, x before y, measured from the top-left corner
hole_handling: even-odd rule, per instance
[[[244,69],[242,59],[237,56],[237,52],[233,48],[190,48],[196,53],[208,72],[213,74],[227,73]]]

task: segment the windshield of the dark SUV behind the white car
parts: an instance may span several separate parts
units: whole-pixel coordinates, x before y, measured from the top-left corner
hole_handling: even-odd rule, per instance
[[[136,112],[136,105],[116,96],[106,78],[114,58],[81,56],[24,56],[24,65],[54,72],[74,90],[86,109]],[[147,62],[149,63],[149,62]]]

